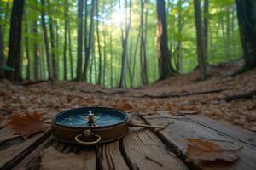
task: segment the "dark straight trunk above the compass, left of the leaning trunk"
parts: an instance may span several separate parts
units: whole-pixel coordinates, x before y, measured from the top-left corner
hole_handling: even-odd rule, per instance
[[[78,14],[78,62],[77,62],[77,78],[78,82],[82,81],[82,63],[83,63],[83,11],[84,0],[79,0],[79,14]]]

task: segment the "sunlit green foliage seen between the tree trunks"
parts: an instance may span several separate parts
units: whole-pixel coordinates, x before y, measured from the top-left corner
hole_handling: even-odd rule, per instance
[[[3,3],[4,2],[4,3]],[[7,3],[9,2],[9,3]],[[45,7],[42,7],[40,0],[26,1],[24,17],[23,17],[23,33],[22,33],[22,73],[23,77],[27,77],[30,73],[29,79],[34,78],[34,44],[38,44],[39,53],[39,74],[42,79],[46,79],[48,76],[47,71],[47,59],[45,55],[43,30],[41,23],[41,12],[45,9],[45,21],[49,35],[49,16],[54,24],[55,44],[56,48],[51,49],[50,53],[55,53],[57,59],[59,59],[60,67],[60,79],[64,77],[64,24],[65,20],[68,20],[70,33],[71,33],[71,50],[73,56],[73,72],[75,76],[76,64],[77,64],[77,26],[78,26],[78,1],[67,1],[67,18],[65,18],[65,2],[66,0],[45,0]],[[106,73],[104,86],[111,87],[111,77],[113,77],[113,87],[118,86],[119,74],[121,69],[121,27],[125,29],[125,0],[121,0],[121,8],[119,11],[118,0],[99,1],[99,30],[100,30],[100,42],[103,53],[103,48],[106,51]],[[129,2],[129,0],[128,0]],[[147,62],[148,62],[148,79],[149,82],[154,82],[158,79],[158,61],[157,61],[157,40],[156,40],[156,1],[148,1],[148,26],[147,31]],[[2,5],[4,4],[4,5]],[[7,5],[8,4],[8,5]],[[129,4],[129,3],[128,3]],[[209,19],[209,34],[208,34],[208,50],[207,50],[207,62],[208,64],[217,64],[219,62],[225,62],[241,57],[241,44],[238,31],[238,23],[236,19],[235,0],[214,0],[209,1],[209,14],[205,17]],[[3,10],[0,10],[0,25],[4,27],[3,42],[4,54],[7,56],[8,43],[9,43],[9,20],[11,15],[11,2],[8,0],[1,0]],[[90,10],[91,0],[87,1],[88,5],[88,27],[90,24]],[[140,1],[132,0],[131,5],[131,30],[128,38],[128,60],[129,64],[135,63],[135,76],[133,86],[139,86],[142,84],[140,73],[140,40],[137,47],[137,53],[135,54],[137,36],[140,31]],[[201,1],[201,11],[203,14],[203,1]],[[129,8],[127,8],[128,10]],[[145,12],[145,11],[144,11]],[[145,13],[144,13],[145,14]],[[230,17],[228,19],[228,16]],[[172,65],[177,68],[178,62],[182,62],[181,73],[187,73],[192,71],[197,64],[196,53],[196,34],[195,34],[195,14],[193,1],[189,0],[166,0],[166,23],[167,23],[167,35],[168,46],[172,54]],[[96,16],[93,18],[96,23]],[[145,20],[145,19],[144,19]],[[203,19],[202,19],[203,20]],[[33,33],[33,24],[36,22],[38,34]],[[229,26],[229,29],[228,29]],[[58,28],[58,31],[57,31]],[[99,55],[98,44],[96,42],[96,24],[94,26],[94,42],[93,50],[90,57],[90,71],[88,77],[91,76],[91,82],[97,82],[97,75],[99,71]],[[87,32],[88,33],[88,32]],[[58,35],[58,42],[56,36]],[[106,44],[104,44],[104,36]],[[112,53],[110,49],[110,37],[112,37]],[[25,40],[28,40],[28,47]],[[83,40],[84,41],[84,40]],[[182,44],[181,52],[178,51],[178,45]],[[69,43],[67,43],[67,47]],[[26,52],[28,48],[28,53]],[[67,49],[67,78],[71,80],[69,51]],[[178,54],[182,56],[178,59]],[[83,65],[84,65],[84,53],[83,53]],[[135,55],[135,59],[134,59]],[[92,57],[94,56],[94,57]],[[103,56],[103,54],[102,54]],[[113,61],[111,63],[111,57]],[[4,59],[6,60],[6,58]],[[28,66],[29,64],[29,66]],[[103,66],[103,64],[102,64]],[[111,75],[111,67],[113,68],[113,74]],[[2,68],[3,69],[3,68]],[[126,87],[131,87],[131,78],[129,71],[127,71]],[[103,84],[102,84],[103,85]]]

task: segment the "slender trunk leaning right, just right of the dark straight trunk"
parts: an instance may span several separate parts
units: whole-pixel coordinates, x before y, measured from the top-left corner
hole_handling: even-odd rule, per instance
[[[87,81],[87,70],[89,66],[90,61],[90,52],[92,51],[93,44],[94,44],[94,13],[95,13],[95,3],[97,3],[98,0],[92,1],[91,3],[91,11],[90,11],[90,30],[89,30],[89,42],[86,46],[85,51],[85,62],[84,62],[84,80]]]

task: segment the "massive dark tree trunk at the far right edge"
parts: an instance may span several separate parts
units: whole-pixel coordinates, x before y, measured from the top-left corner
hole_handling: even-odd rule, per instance
[[[256,1],[236,0],[244,66],[239,72],[256,68]]]

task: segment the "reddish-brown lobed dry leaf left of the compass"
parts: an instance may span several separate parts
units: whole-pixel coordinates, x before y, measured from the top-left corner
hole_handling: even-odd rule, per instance
[[[41,116],[38,112],[25,116],[15,113],[11,116],[8,126],[26,139],[31,134],[47,130],[40,120]]]

